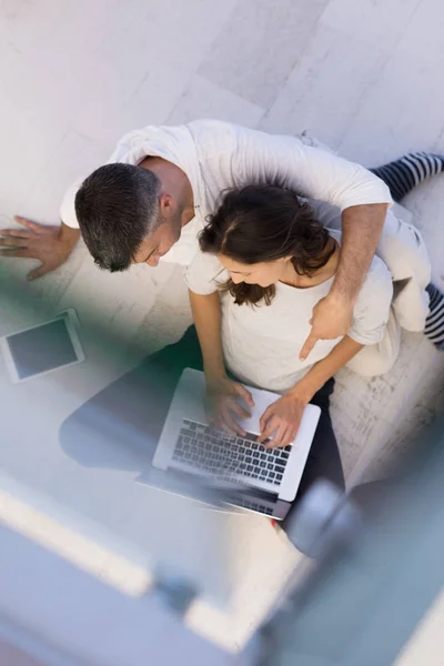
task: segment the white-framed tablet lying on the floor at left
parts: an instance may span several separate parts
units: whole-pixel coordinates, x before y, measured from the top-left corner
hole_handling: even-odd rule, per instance
[[[75,310],[67,310],[44,324],[2,337],[0,350],[16,383],[80,363],[84,354]]]

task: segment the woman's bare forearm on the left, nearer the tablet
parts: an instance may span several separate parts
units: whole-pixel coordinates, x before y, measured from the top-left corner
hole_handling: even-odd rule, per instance
[[[218,292],[209,295],[189,290],[194,325],[203,356],[203,370],[208,379],[225,374],[221,337],[221,301]]]

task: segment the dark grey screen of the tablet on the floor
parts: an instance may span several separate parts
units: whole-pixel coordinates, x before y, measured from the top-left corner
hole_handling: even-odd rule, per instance
[[[20,380],[78,360],[64,317],[8,336]]]

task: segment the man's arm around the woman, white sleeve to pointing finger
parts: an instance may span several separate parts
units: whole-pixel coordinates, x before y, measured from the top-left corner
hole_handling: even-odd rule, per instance
[[[313,311],[312,334],[301,357],[316,340],[344,335],[383,229],[392,196],[386,184],[353,162],[303,145],[294,137],[279,137],[235,128],[233,172],[239,185],[278,183],[303,196],[325,201],[342,213],[342,251],[329,299]]]

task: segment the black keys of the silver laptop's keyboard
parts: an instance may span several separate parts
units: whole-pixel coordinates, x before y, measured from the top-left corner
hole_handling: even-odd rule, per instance
[[[173,460],[195,471],[226,481],[245,476],[281,484],[291,446],[265,448],[258,435],[234,437],[224,431],[184,418],[173,452]]]

